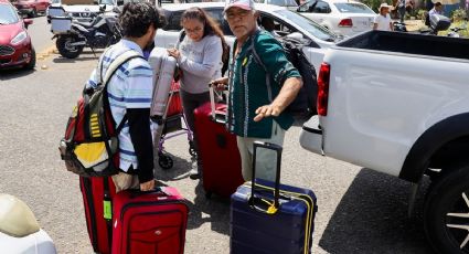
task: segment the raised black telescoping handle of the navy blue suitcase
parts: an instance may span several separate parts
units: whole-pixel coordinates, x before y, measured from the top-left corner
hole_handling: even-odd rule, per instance
[[[267,210],[264,210],[256,205],[255,200],[255,187],[256,187],[256,156],[257,156],[257,148],[265,148],[276,151],[277,154],[277,172],[275,176],[275,189],[274,189],[274,203],[270,203],[270,207]],[[264,212],[267,214],[275,214],[278,210],[279,204],[279,198],[280,198],[280,163],[281,163],[281,151],[283,147],[276,144],[271,142],[262,142],[262,141],[254,141],[253,144],[253,178],[252,178],[252,187],[251,187],[251,199],[249,199],[249,205],[254,208],[255,210],[259,212]]]

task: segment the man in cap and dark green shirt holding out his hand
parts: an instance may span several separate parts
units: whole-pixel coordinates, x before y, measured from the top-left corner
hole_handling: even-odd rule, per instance
[[[258,29],[253,0],[227,0],[224,14],[236,41],[228,77],[213,83],[228,85],[227,126],[237,136],[243,178],[248,181],[252,179],[253,142],[284,144],[285,131],[294,124],[292,116],[284,109],[297,96],[302,81],[298,70],[288,62],[281,44],[270,33]],[[259,150],[256,177],[275,180],[275,152]]]

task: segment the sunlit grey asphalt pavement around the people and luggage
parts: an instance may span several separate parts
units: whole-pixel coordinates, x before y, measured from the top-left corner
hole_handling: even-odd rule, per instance
[[[35,71],[0,72],[0,192],[31,207],[58,253],[93,252],[78,178],[65,170],[57,146],[96,63],[97,56],[85,51],[76,60],[46,55]],[[431,253],[418,212],[425,188],[408,219],[409,183],[308,152],[299,146],[299,131],[287,131],[281,181],[310,188],[318,197],[313,253]],[[169,139],[164,148],[174,167],[157,167],[156,176],[186,199],[185,253],[230,253],[230,201],[207,200],[200,182],[188,178],[186,137]]]

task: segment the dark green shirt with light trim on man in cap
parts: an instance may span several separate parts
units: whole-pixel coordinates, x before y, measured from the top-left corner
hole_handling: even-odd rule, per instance
[[[252,42],[254,40],[254,43]],[[236,49],[237,40],[233,45]],[[266,76],[264,67],[256,62],[252,46],[263,60],[270,75]],[[241,137],[270,138],[273,120],[281,128],[288,129],[294,118],[287,112],[278,117],[266,117],[254,121],[255,110],[271,103],[280,92],[288,77],[301,77],[298,70],[288,62],[281,44],[266,31],[258,31],[244,43],[241,52],[230,61],[228,113],[230,131]],[[271,96],[266,77],[270,78]],[[271,98],[269,98],[271,97]]]

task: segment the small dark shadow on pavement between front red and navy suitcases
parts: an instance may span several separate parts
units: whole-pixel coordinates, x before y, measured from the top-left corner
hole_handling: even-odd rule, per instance
[[[211,223],[211,230],[230,235],[230,199],[213,194],[205,197],[202,181],[195,187],[194,203],[189,203],[188,230],[198,229],[204,223]]]

